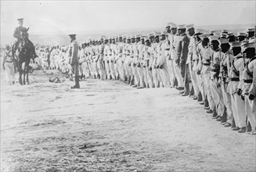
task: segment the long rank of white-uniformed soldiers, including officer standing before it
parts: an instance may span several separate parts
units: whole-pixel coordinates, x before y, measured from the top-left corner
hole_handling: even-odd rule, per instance
[[[124,81],[132,88],[175,88],[239,133],[256,134],[255,28],[243,33],[168,23],[149,34],[93,38],[80,46],[36,48],[43,69],[79,81]]]

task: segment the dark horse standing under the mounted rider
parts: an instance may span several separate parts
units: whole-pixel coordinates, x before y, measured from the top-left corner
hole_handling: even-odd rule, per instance
[[[20,73],[19,77],[19,83],[22,84],[29,84],[28,81],[28,73],[29,73],[29,63],[31,62],[31,59],[34,59],[34,46],[30,45],[29,39],[28,39],[28,33],[27,30],[22,30],[21,32],[21,39],[18,43],[18,48],[14,50],[14,63],[16,68],[18,69],[18,72]],[[22,74],[23,74],[23,80],[22,80]],[[26,78],[27,77],[27,78]],[[25,81],[25,79],[27,79]]]

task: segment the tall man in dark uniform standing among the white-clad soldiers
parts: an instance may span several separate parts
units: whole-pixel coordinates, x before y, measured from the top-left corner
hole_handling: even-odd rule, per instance
[[[186,35],[186,25],[178,25],[178,35],[179,39],[175,47],[175,55],[177,58],[175,62],[181,69],[182,79],[185,85],[183,91],[181,91],[180,93],[182,93],[182,96],[186,96],[189,95],[189,78],[186,65],[186,60],[189,52],[189,38]]]

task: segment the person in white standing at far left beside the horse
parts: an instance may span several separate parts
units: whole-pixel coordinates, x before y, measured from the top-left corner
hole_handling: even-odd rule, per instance
[[[15,69],[13,63],[13,56],[11,55],[10,45],[5,45],[4,59],[2,67],[6,73],[6,81],[9,85],[15,84]]]

